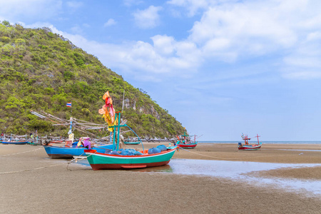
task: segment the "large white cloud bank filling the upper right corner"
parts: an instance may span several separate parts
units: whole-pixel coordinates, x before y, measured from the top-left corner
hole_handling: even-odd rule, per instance
[[[188,39],[205,58],[234,62],[275,53],[283,57],[283,77],[320,78],[320,6],[306,0],[212,4]]]

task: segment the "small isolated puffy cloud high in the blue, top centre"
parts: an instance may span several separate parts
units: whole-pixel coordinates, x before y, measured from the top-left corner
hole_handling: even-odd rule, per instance
[[[138,10],[133,13],[136,25],[141,29],[153,29],[158,26],[160,17],[158,11],[163,9],[161,6],[149,6],[148,9]]]

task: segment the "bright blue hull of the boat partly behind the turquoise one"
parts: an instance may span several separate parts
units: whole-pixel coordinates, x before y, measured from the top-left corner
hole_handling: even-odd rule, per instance
[[[76,147],[58,147],[58,146],[44,146],[46,153],[51,159],[59,158],[73,158],[73,156],[85,156],[85,150],[87,148],[76,148]],[[105,153],[106,149],[113,149],[113,145],[105,145],[95,147],[97,151]]]

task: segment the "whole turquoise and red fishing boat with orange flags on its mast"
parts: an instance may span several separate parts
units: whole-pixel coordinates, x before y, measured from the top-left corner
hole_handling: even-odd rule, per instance
[[[93,170],[147,168],[166,165],[170,162],[177,146],[165,147],[162,145],[163,148],[159,152],[153,151],[153,149],[157,150],[157,148],[150,148],[148,151],[143,148],[142,151],[135,151],[134,153],[119,149],[121,127],[129,128],[129,126],[126,123],[123,125],[118,123],[118,121],[121,121],[121,112],[115,112],[113,109],[108,91],[103,96],[103,99],[106,104],[98,112],[103,114],[106,122],[108,122],[108,128],[113,133],[113,151],[111,153],[100,153],[96,149],[85,150],[87,160]],[[131,129],[131,131],[133,130]],[[134,131],[133,133],[136,135]],[[141,145],[143,146],[143,143]]]

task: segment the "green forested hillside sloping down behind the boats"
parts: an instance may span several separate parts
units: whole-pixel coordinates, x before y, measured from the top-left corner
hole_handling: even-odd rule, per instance
[[[25,29],[2,21],[0,54],[0,132],[23,135],[38,130],[40,135],[67,136],[66,127],[51,126],[30,110],[69,119],[66,103],[71,102],[73,117],[103,124],[98,114],[103,94],[109,91],[114,108],[121,111],[125,91],[123,118],[138,136],[172,138],[183,133],[183,126],[146,92],[51,29]]]

